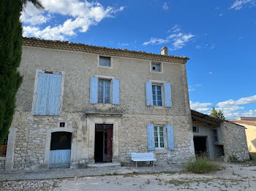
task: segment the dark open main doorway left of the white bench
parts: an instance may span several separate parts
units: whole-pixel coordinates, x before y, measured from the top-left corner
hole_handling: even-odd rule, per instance
[[[113,155],[113,125],[95,125],[94,160],[96,163],[111,163]]]

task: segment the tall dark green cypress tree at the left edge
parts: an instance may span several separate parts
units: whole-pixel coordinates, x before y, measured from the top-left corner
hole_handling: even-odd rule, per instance
[[[23,41],[20,15],[28,2],[43,9],[37,0],[0,1],[0,145],[9,133],[15,112],[15,95],[22,82],[18,72]]]

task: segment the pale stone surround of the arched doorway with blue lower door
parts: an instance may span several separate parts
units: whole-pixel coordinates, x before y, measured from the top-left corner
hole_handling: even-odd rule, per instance
[[[45,160],[44,160],[44,163],[42,164],[42,168],[49,168],[51,133],[56,133],[56,132],[72,133],[71,156],[70,156],[70,165],[69,165],[69,168],[71,168],[72,162],[75,161],[75,145],[76,145],[76,138],[75,136],[73,136],[74,130],[72,128],[51,128],[47,130],[46,140],[45,140]]]

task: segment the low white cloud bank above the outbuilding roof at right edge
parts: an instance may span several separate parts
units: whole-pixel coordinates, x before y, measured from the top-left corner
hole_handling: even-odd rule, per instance
[[[236,119],[237,117],[256,117],[256,109],[250,109],[246,111],[244,105],[246,104],[256,104],[256,95],[240,98],[236,101],[233,99],[227,101],[221,101],[217,104],[216,109],[222,110],[225,114],[226,119]],[[211,103],[200,103],[190,101],[191,109],[195,109],[198,112],[206,112],[209,114],[211,112]]]

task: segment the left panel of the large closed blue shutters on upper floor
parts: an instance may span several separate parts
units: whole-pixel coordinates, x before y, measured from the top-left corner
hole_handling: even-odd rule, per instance
[[[47,112],[48,80],[47,74],[39,73],[37,81],[37,99],[34,114],[44,115]]]

